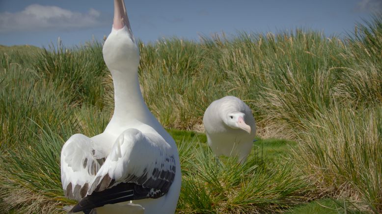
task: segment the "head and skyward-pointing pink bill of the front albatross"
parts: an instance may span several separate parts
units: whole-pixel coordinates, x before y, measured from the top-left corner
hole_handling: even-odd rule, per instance
[[[137,72],[139,49],[130,27],[123,0],[114,0],[113,27],[102,50],[111,75],[116,72]]]

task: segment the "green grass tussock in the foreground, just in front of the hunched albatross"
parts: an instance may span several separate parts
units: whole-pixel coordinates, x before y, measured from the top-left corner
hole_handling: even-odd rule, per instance
[[[256,155],[244,165],[234,159],[218,160],[200,142],[203,138],[195,135],[191,143],[179,145],[183,174],[179,213],[275,212],[301,201],[307,184],[293,165],[267,161],[255,147]]]

